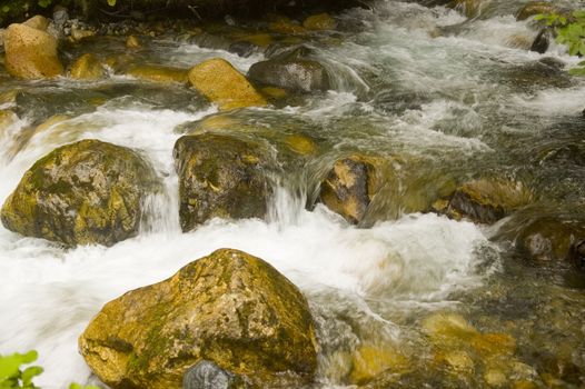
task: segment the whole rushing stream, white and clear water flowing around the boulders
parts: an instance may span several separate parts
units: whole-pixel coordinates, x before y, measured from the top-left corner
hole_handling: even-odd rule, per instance
[[[484,387],[494,385],[494,370],[505,376],[503,387],[583,387],[584,276],[565,263],[535,266],[500,236],[543,215],[585,220],[585,82],[563,71],[576,60],[562,47],[526,50],[537,30],[515,20],[525,1],[484,3],[468,20],[443,7],[377,2],[336,16],[339,31],[307,37],[311,56],[335,74],[334,90],[219,113],[278,153],[284,168],[274,177],[269,217],[211,220],[188,233],[179,228],[172,147],[186,131],[179,124],[216,114],[216,107],[188,88],[122,76],[0,76],[0,92],[21,91],[0,106],[18,113],[0,129],[1,201],[37,159],[85,138],[142,150],[166,186],[147,201],[139,236],[110,248],[63,249],[0,227],[0,353],[37,349],[43,388],[98,382],[77,338],[102,305],[229,247],[267,260],[307,296],[321,347],[317,387],[350,386],[364,345],[398,350],[407,366],[400,387]],[[123,39],[66,48],[71,58],[92,50],[122,52]],[[245,72],[264,54],[240,58],[172,33],[135,53],[136,61],[185,68],[211,57]],[[290,136],[309,138],[317,152],[291,161],[282,147]],[[306,207],[333,161],[353,152],[391,158],[399,171],[363,226],[369,228],[321,205]],[[419,212],[454,182],[483,176],[522,180],[538,200],[493,227]],[[445,372],[424,330],[436,312],[512,337],[515,350],[498,355],[496,367],[479,352],[473,368]],[[388,352],[374,359],[396,361]]]

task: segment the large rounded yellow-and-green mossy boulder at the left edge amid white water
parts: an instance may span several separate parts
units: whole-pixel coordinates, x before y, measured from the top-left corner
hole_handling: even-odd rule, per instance
[[[156,173],[135,151],[82,140],[51,151],[2,207],[6,228],[67,246],[111,246],[138,233],[141,201]]]

